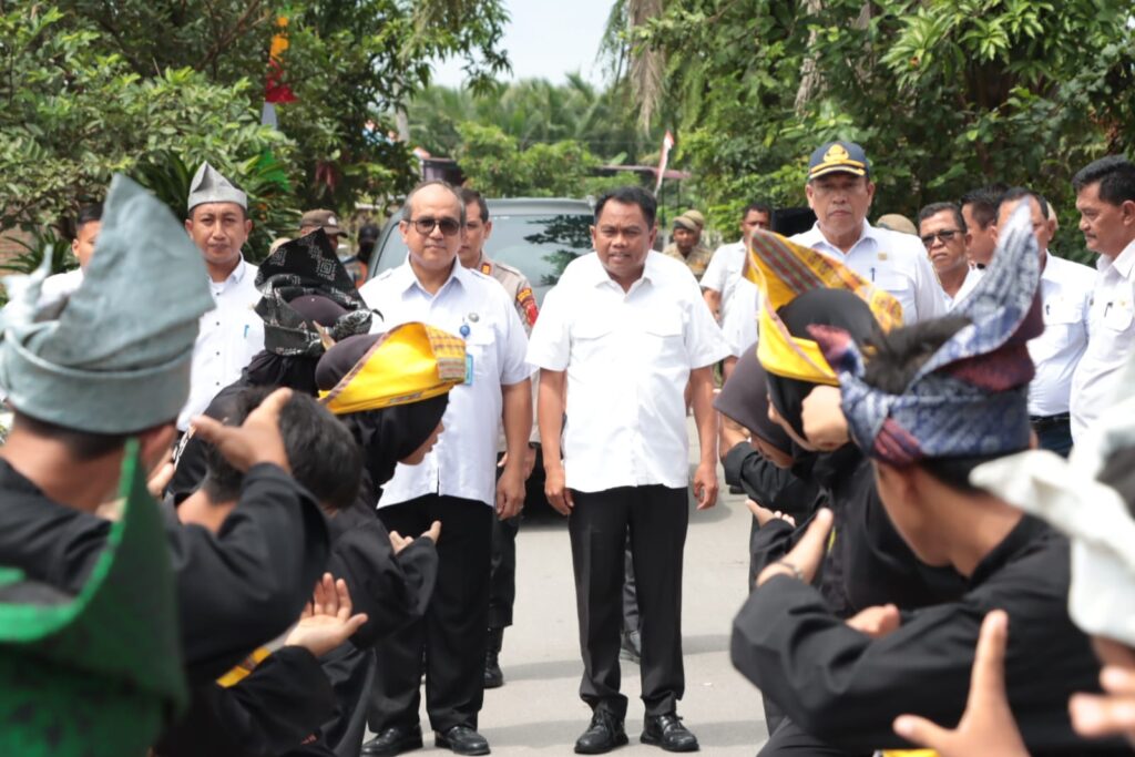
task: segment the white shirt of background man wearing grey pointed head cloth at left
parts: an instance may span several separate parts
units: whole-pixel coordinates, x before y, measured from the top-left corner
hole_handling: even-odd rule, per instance
[[[243,258],[224,281],[209,281],[217,308],[201,317],[193,345],[190,401],[177,417],[177,428],[190,427],[217,393],[241,378],[241,371],[264,348],[264,322],[253,310],[260,301],[257,267]]]

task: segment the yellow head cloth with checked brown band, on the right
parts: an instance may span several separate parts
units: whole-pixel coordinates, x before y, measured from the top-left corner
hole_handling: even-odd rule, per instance
[[[792,336],[776,311],[812,289],[846,289],[858,295],[888,331],[902,325],[902,305],[883,289],[822,252],[757,229],[749,239],[746,277],[760,289],[757,359],[774,376],[835,386],[835,371],[812,339]]]

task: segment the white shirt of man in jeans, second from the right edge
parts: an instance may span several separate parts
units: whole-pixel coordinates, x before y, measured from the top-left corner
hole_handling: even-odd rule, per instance
[[[1037,418],[1068,412],[1071,376],[1087,348],[1088,313],[1095,271],[1087,266],[1045,256],[1041,272],[1044,333],[1028,340],[1036,376],[1028,385],[1028,414]]]

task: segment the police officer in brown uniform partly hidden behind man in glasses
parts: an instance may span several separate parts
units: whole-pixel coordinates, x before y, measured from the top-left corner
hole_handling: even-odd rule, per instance
[[[465,203],[465,236],[457,253],[461,264],[491,276],[512,298],[520,314],[524,331],[531,334],[536,323],[538,309],[532,286],[520,270],[505,263],[490,260],[485,254],[485,243],[493,234],[493,221],[489,220],[489,207],[485,197],[473,190],[461,190],[461,200]],[[536,379],[532,380],[533,388]],[[536,444],[539,441],[535,418],[532,436],[524,457],[524,478],[532,473],[536,465]],[[501,437],[497,452],[504,453],[504,437]],[[498,657],[504,642],[504,630],[512,625],[512,606],[516,599],[516,532],[520,530],[520,515],[505,520],[493,521],[493,567],[489,577],[489,634],[485,650],[485,688],[496,689],[504,685],[504,673],[501,671]]]

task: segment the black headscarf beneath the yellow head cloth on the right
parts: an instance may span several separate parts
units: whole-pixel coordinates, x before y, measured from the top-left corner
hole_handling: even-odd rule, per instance
[[[776,314],[792,336],[810,339],[808,327],[813,325],[838,326],[846,329],[857,343],[863,342],[878,329],[875,316],[861,298],[844,289],[812,289],[788,303]],[[816,388],[816,384],[789,379],[768,373],[768,398],[776,412],[792,430],[804,437],[804,421],[800,417],[804,398]]]

